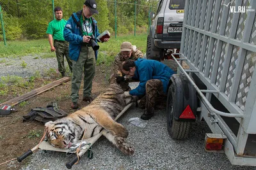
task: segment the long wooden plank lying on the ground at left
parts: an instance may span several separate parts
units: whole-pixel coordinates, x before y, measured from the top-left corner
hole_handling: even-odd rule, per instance
[[[69,77],[63,77],[59,80],[53,81],[52,83],[49,83],[47,85],[44,85],[43,87],[40,87],[38,89],[32,90],[26,94],[23,94],[22,96],[19,97],[15,97],[14,99],[10,99],[9,101],[6,101],[2,104],[8,104],[8,105],[12,105],[15,106],[16,104],[21,103],[22,101],[26,101],[27,99],[34,97],[38,94],[41,94],[42,92],[45,92],[49,89],[52,89],[53,87],[56,87],[58,85],[60,85],[61,83],[65,83],[67,81],[69,81],[70,78]],[[0,104],[1,105],[1,104]]]

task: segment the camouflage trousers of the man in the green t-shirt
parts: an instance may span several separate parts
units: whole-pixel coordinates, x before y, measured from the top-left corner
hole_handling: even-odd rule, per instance
[[[65,66],[64,66],[64,55],[66,56],[68,67],[70,71],[72,72],[72,60],[70,60],[68,55],[68,42],[67,41],[58,41],[54,40],[54,48],[56,49],[56,57],[58,61],[58,70],[60,73],[65,72]]]

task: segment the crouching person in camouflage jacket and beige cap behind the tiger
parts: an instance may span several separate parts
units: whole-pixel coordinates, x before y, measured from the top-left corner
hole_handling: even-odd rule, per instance
[[[136,48],[135,45],[132,45],[130,42],[124,42],[121,44],[120,52],[115,57],[115,66],[114,66],[114,74],[121,74],[121,65],[125,60],[137,60],[142,59],[143,53]],[[124,81],[125,80],[125,81]],[[117,78],[118,83],[120,83],[121,87],[125,91],[131,90],[129,87],[129,83],[127,81],[131,80],[129,76],[120,76]]]

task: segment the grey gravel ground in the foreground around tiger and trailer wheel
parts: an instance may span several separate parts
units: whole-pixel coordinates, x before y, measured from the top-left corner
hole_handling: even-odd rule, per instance
[[[140,117],[141,112],[132,106],[118,120],[129,131],[127,141],[134,146],[134,155],[124,155],[101,137],[93,145],[93,159],[85,154],[72,169],[253,169],[232,166],[224,153],[205,152],[205,132],[210,132],[205,122],[193,124],[189,139],[175,141],[168,135],[164,110],[157,110],[145,128],[128,122],[129,118]],[[29,163],[22,169],[67,169],[65,164],[75,156],[40,150],[28,158]]]

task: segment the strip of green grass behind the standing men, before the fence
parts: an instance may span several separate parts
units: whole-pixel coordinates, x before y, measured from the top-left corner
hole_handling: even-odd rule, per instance
[[[99,43],[99,55],[97,65],[106,64],[110,66],[113,63],[115,55],[120,51],[120,45],[124,41],[129,41],[132,45],[136,45],[138,50],[146,53],[147,34],[129,34],[125,36],[111,35],[107,43]],[[51,52],[48,39],[37,39],[31,41],[7,41],[7,46],[0,43],[0,58],[21,58],[26,55],[36,55],[42,58],[55,57],[55,53]],[[5,62],[5,61],[3,61]]]

